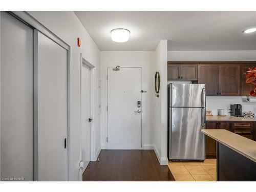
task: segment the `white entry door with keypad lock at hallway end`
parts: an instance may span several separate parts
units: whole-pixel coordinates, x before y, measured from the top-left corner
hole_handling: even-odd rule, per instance
[[[142,148],[141,90],[141,68],[108,68],[108,149]]]

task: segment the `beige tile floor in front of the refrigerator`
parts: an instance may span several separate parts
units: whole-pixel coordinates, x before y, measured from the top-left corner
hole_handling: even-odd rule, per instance
[[[173,162],[168,167],[176,181],[216,181],[216,159],[204,162]]]

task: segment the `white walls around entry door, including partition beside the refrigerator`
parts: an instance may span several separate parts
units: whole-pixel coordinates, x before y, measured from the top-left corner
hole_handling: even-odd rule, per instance
[[[161,164],[167,164],[167,40],[156,51],[102,51],[101,146],[106,147],[106,68],[125,66],[143,69],[143,148],[154,149]],[[155,72],[160,73],[160,97],[155,96]]]

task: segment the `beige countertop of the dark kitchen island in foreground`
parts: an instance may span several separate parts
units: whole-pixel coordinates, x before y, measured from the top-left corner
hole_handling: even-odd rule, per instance
[[[227,130],[201,130],[201,132],[212,139],[226,145],[232,150],[240,153],[248,159],[256,162],[256,141],[247,139]]]

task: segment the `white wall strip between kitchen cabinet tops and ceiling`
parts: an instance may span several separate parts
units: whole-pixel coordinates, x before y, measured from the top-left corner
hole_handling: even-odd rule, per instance
[[[168,61],[251,61],[256,50],[242,51],[168,51]]]

